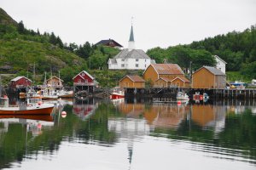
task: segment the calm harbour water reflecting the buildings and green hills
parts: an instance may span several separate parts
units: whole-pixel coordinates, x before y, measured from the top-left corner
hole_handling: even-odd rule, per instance
[[[256,101],[56,101],[0,116],[0,169],[256,169]]]

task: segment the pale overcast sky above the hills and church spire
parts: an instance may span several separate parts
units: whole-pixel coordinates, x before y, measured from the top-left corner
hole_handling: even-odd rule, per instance
[[[256,24],[255,0],[0,0],[27,29],[53,31],[63,42],[112,38],[128,46],[131,17],[136,48],[167,48],[244,31]]]

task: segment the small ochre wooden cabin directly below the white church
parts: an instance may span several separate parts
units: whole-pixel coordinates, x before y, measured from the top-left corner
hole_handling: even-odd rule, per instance
[[[119,81],[120,88],[145,88],[145,80],[137,75],[125,76]]]

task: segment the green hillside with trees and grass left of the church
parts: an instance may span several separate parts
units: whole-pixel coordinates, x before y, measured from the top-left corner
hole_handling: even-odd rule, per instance
[[[80,71],[88,69],[104,72],[108,59],[119,53],[118,49],[95,46],[89,42],[83,45],[63,43],[53,32],[40,33],[26,29],[23,22],[17,23],[0,8],[0,74],[9,82],[16,76],[32,77],[36,72],[35,83],[44,81],[52,73],[67,85],[72,85],[72,78]],[[89,71],[90,72],[90,71]],[[100,82],[100,81],[99,81]],[[100,82],[101,83],[101,82]],[[106,83],[102,83],[106,84]]]

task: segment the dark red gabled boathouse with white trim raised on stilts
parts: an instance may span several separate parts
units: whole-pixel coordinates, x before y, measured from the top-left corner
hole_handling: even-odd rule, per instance
[[[73,77],[73,91],[87,91],[94,92],[96,88],[96,79],[92,77],[87,71],[81,71],[77,76]]]

